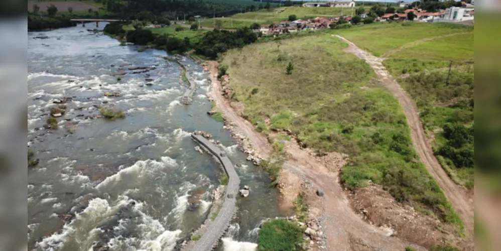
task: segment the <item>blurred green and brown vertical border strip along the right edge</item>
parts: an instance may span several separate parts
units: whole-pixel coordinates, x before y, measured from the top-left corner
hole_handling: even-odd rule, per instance
[[[501,2],[475,7],[475,250],[501,250]]]

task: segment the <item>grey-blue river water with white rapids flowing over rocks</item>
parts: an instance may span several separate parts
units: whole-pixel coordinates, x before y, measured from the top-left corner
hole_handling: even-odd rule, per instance
[[[278,192],[263,170],[245,161],[223,123],[206,114],[207,73],[183,60],[200,88],[193,104],[182,105],[186,85],[179,65],[163,58],[170,55],[137,52],[86,31],[94,26],[28,35],[28,150],[40,160],[28,172],[29,248],[92,250],[106,243],[109,250],[172,250],[207,217],[221,174],[211,156],[194,151],[189,133],[200,130],[225,146],[241,164],[241,185],[251,187],[249,197],[238,199],[238,217],[218,249],[254,250],[259,223],[282,214]],[[150,68],[133,73],[141,71],[130,70],[136,67]],[[113,73],[120,72],[127,74],[118,80]],[[44,129],[53,101],[63,97],[72,100],[58,118],[59,129]],[[127,116],[94,118],[95,106]],[[188,201],[197,198],[200,206],[188,210]]]

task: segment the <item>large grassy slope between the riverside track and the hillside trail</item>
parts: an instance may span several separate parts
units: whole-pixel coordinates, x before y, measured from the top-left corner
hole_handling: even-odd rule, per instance
[[[318,152],[351,156],[350,189],[383,184],[399,201],[461,225],[412,148],[402,108],[372,69],[330,34],[258,43],[223,56],[234,101],[264,134],[290,129]],[[291,75],[286,66],[292,62]]]

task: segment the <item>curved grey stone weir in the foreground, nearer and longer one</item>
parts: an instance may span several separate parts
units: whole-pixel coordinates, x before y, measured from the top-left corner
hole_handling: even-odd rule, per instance
[[[207,151],[213,154],[221,163],[224,172],[228,175],[229,181],[226,186],[226,195],[224,202],[217,213],[217,217],[212,223],[206,226],[204,233],[198,240],[190,240],[183,248],[183,251],[211,251],[217,247],[219,239],[223,236],[226,229],[229,227],[231,219],[236,213],[236,195],[240,186],[240,178],[236,174],[235,168],[231,161],[226,156],[226,153],[219,147],[212,144],[202,135],[192,134],[191,138],[198,142]]]

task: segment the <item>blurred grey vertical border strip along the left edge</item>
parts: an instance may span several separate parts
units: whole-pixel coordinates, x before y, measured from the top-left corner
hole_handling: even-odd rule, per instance
[[[27,1],[0,0],[0,250],[26,250]]]

